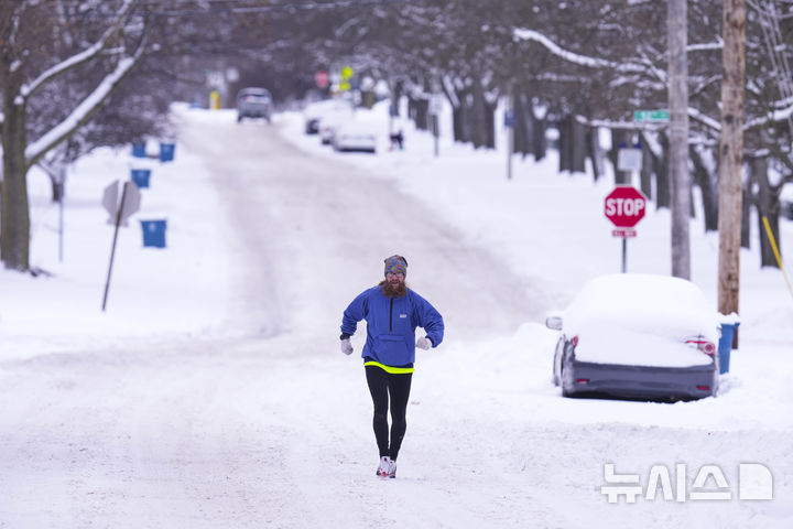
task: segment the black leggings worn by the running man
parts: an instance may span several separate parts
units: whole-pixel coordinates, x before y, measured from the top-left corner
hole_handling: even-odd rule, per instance
[[[374,439],[377,439],[380,457],[390,456],[397,461],[402,439],[408,429],[405,412],[412,373],[392,375],[378,366],[365,366],[369,392],[374,404]],[[391,445],[389,446],[388,411],[389,395],[391,395]]]

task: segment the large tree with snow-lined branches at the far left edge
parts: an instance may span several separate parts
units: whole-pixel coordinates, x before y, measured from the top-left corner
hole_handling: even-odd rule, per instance
[[[143,56],[145,18],[134,11],[137,3],[137,0],[3,3],[0,258],[6,268],[25,271],[30,266],[28,171],[86,123]],[[77,100],[51,99],[48,107],[61,114],[59,119],[41,127],[36,122],[41,115],[30,114],[32,101],[76,69],[100,75]],[[55,94],[65,96],[66,91]],[[44,132],[29,138],[30,125]]]

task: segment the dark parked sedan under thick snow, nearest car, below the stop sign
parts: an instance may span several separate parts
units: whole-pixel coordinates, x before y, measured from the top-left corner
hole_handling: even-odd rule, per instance
[[[689,400],[718,390],[717,313],[684,279],[602,276],[545,325],[561,332],[553,380],[565,397]]]

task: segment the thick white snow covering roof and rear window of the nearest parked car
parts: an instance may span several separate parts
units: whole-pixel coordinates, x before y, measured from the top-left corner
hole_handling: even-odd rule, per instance
[[[718,319],[691,281],[667,276],[601,276],[584,285],[564,312],[564,331],[619,327],[675,338],[702,335],[718,339]]]

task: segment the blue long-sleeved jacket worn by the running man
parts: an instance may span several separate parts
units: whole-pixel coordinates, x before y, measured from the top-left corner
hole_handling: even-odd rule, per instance
[[[424,328],[433,347],[443,341],[443,317],[412,290],[402,298],[388,298],[380,287],[365,290],[345,310],[341,332],[355,334],[361,320],[367,322],[367,342],[361,356],[387,366],[406,366],[415,361],[416,327]]]

